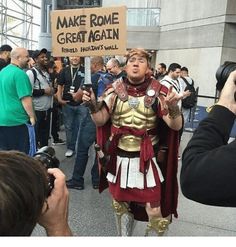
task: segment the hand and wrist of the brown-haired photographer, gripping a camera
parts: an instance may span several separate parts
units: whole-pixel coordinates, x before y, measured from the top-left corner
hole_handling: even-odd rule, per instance
[[[39,219],[48,236],[72,236],[68,225],[69,192],[65,183],[65,175],[57,168],[48,169],[55,177],[54,188],[45,202]]]

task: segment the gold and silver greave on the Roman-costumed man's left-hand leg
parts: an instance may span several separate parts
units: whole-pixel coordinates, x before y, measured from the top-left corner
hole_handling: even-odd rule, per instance
[[[129,205],[126,202],[112,200],[112,208],[116,215],[118,236],[131,236],[134,225],[134,216],[129,212]]]

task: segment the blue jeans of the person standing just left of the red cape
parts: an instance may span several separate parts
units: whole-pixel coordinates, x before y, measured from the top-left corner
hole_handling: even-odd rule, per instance
[[[88,162],[88,151],[89,147],[96,140],[96,126],[93,120],[90,117],[90,114],[87,113],[81,123],[78,140],[77,140],[77,152],[74,165],[74,171],[72,175],[72,180],[77,185],[84,184],[84,172]],[[92,175],[92,184],[98,185],[99,183],[99,172],[98,172],[98,162],[95,155],[93,167],[91,169]]]

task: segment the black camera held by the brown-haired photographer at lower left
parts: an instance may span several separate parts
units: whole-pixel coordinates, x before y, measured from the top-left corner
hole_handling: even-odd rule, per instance
[[[42,147],[34,155],[34,158],[41,161],[43,166],[48,168],[58,168],[60,165],[59,160],[55,156],[55,150],[52,147]],[[52,189],[54,188],[54,176],[48,174],[48,196],[51,194]]]

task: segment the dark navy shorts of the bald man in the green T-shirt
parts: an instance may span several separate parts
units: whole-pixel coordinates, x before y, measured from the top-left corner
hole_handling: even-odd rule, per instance
[[[25,124],[0,126],[0,150],[17,150],[29,154],[29,132]]]

